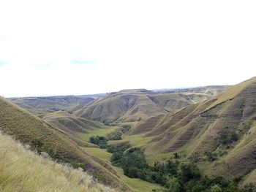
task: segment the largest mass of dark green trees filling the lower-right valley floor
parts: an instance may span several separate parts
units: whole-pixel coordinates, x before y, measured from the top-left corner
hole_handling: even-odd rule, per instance
[[[223,177],[203,177],[197,165],[180,163],[178,154],[170,158],[155,162],[150,166],[146,162],[140,148],[130,148],[129,144],[118,147],[108,147],[108,152],[113,153],[111,161],[114,165],[124,169],[124,174],[132,178],[140,178],[151,183],[165,186],[164,191],[171,192],[249,192],[256,191],[253,185],[243,189],[238,188],[238,180],[226,180]]]

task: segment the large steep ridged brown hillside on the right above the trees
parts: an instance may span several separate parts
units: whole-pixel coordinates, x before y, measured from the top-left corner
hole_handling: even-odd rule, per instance
[[[129,132],[154,137],[146,146],[147,155],[180,152],[203,158],[216,153],[217,161],[204,164],[211,174],[230,178],[256,168],[256,77],[203,103],[151,119]]]

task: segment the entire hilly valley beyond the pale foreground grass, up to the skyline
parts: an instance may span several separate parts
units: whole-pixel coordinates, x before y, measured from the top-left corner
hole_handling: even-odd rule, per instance
[[[113,190],[246,191],[256,184],[255,85],[1,98],[0,130]]]

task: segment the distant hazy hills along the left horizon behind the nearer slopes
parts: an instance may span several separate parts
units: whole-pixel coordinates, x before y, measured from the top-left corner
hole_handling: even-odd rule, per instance
[[[10,101],[35,115],[39,115],[64,110],[69,107],[83,107],[94,101],[94,99],[84,96],[45,96],[11,98]]]

